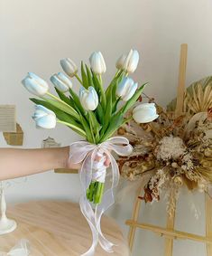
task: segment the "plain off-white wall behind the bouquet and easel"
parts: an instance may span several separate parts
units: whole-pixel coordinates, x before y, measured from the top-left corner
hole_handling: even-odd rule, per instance
[[[27,71],[48,79],[60,71],[61,58],[79,63],[100,50],[106,58],[109,81],[115,60],[130,48],[139,50],[141,63],[134,79],[150,81],[145,92],[163,106],[174,96],[178,80],[180,43],[189,43],[187,84],[211,74],[211,0],[0,0],[0,104],[16,104],[18,121],[24,130],[23,147],[40,147],[41,140],[54,137],[68,145],[78,137],[68,128],[51,131],[34,128],[30,95],[20,81]],[[78,87],[76,85],[76,87]],[[6,147],[0,137],[0,146]],[[8,192],[10,202],[37,198],[66,198],[78,201],[78,175],[48,172],[28,177]],[[188,195],[180,200],[177,228],[204,233],[204,197],[195,200],[202,210],[195,220],[188,210]],[[124,220],[131,216],[132,196],[116,205],[115,216],[126,234]],[[143,205],[143,222],[165,225],[165,204]],[[163,238],[151,232],[137,232],[134,256],[163,255]],[[175,242],[174,256],[202,256],[205,246],[196,242]]]

